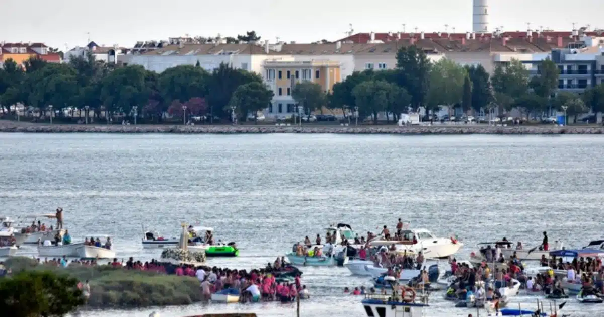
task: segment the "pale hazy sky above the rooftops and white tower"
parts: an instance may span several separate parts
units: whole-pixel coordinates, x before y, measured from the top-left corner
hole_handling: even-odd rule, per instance
[[[604,28],[604,0],[488,0],[489,30]],[[571,4],[571,6],[570,6]],[[44,42],[60,50],[86,45],[131,47],[137,40],[185,36],[262,37],[298,43],[358,32],[472,29],[472,0],[0,0],[0,41]]]

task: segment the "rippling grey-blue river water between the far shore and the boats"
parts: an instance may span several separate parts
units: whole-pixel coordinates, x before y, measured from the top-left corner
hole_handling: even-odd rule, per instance
[[[199,220],[242,249],[239,258],[209,264],[249,269],[284,255],[304,235],[323,235],[329,223],[375,232],[399,217],[440,236],[459,235],[464,258],[476,243],[503,236],[535,245],[547,231],[550,240],[576,247],[600,238],[603,158],[601,136],[7,133],[0,134],[0,199],[11,217],[63,207],[72,239],[111,234],[123,258],[158,257],[142,249],[143,228],[175,236],[181,222]],[[312,299],[302,316],[364,316],[360,298],[342,289],[369,286],[367,279],[344,268],[303,271]],[[475,314],[441,298],[432,295],[428,316]],[[515,302],[532,309],[536,299]],[[593,316],[600,307],[570,299],[564,311]],[[295,316],[293,304],[278,303],[84,315],[153,310]]]

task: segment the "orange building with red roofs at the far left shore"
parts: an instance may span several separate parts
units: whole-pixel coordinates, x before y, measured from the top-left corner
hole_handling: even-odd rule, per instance
[[[26,60],[36,57],[50,63],[61,62],[61,56],[51,53],[50,47],[44,43],[0,43],[0,63],[12,59],[17,65],[23,66]]]

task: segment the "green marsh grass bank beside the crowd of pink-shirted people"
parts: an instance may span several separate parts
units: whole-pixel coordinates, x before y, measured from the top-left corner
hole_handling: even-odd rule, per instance
[[[155,272],[134,271],[110,266],[56,267],[37,264],[31,258],[13,257],[5,261],[13,272],[50,270],[68,274],[82,283],[89,280],[89,308],[138,308],[179,306],[201,301],[199,281],[194,277],[176,277]]]

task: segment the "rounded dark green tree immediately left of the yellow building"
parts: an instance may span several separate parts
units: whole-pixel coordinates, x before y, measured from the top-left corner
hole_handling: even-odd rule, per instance
[[[234,106],[236,114],[246,120],[248,114],[254,114],[254,120],[257,120],[258,112],[266,109],[271,102],[273,92],[264,83],[251,82],[241,85],[233,92],[233,97],[225,109]]]

